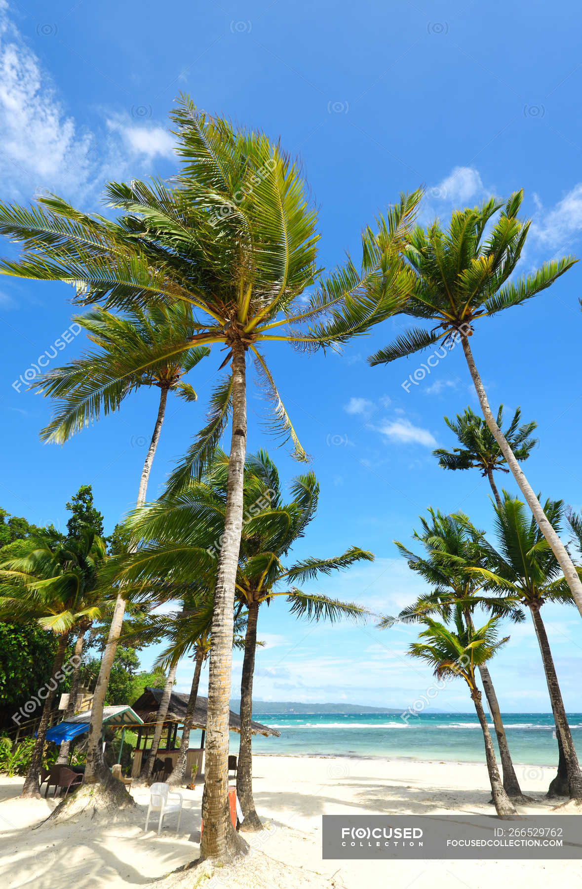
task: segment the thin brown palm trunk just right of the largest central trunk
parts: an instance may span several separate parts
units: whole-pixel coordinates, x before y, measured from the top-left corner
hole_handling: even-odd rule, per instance
[[[252,677],[255,669],[258,618],[259,602],[253,599],[249,603],[249,617],[244,637],[243,676],[241,677],[241,742],[236,763],[236,796],[244,815],[242,829],[249,831],[263,829],[252,798]]]

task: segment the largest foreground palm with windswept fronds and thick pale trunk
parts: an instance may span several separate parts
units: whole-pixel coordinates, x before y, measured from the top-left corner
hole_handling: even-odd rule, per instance
[[[211,397],[211,417],[175,486],[199,477],[231,419],[223,543],[212,624],[202,858],[226,862],[246,844],[227,813],[228,695],[235,581],[243,525],[246,453],[246,358],[254,358],[275,406],[277,426],[306,454],[268,369],[261,344],[288,342],[302,350],[330,347],[367,332],[403,305],[411,271],[401,253],[419,203],[402,196],[362,235],[362,262],[321,281],[316,267],[316,214],[299,167],[261,132],[237,131],[198,111],[187,98],[172,115],[182,169],[175,188],[112,183],[107,194],[124,217],[115,222],[76,211],[57,197],[39,207],[0,206],[0,233],[25,244],[4,274],[75,282],[78,299],[106,308],[185,301],[195,334],[172,355],[195,346],[226,348],[231,376]],[[128,235],[131,236],[128,239]],[[131,242],[131,243],[130,243]],[[316,284],[307,300],[302,294]],[[162,360],[163,355],[159,356]]]

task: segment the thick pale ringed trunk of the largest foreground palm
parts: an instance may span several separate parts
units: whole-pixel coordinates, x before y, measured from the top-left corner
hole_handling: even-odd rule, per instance
[[[202,859],[220,864],[232,861],[248,849],[235,833],[228,811],[228,714],[235,612],[235,581],[243,533],[243,472],[246,454],[245,352],[240,340],[233,342],[233,416],[228,458],[227,503],[224,535],[214,590],[211,625],[208,720],[200,844]]]

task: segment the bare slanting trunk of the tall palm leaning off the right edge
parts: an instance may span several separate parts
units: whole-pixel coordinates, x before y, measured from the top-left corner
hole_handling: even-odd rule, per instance
[[[518,461],[515,460],[514,452],[507,444],[506,437],[503,435],[501,429],[498,427],[495,421],[493,414],[491,413],[487,395],[485,393],[485,389],[483,388],[479,372],[477,371],[477,368],[475,366],[473,353],[471,352],[469,340],[466,337],[465,333],[461,333],[461,342],[463,344],[463,351],[465,352],[466,364],[468,365],[469,373],[471,374],[471,379],[473,380],[474,388],[479,398],[479,404],[481,404],[481,410],[483,413],[483,417],[485,418],[485,422],[489,426],[491,433],[498,443],[501,449],[501,453],[506,458],[507,466],[509,467],[509,469],[511,469],[514,479],[519,485],[523,497],[525,498],[526,503],[531,509],[533,517],[538,523],[539,530],[546,538],[550,549],[554,553],[554,556],[556,557],[560,567],[562,568],[563,575],[566,578],[566,582],[568,583],[572,596],[574,597],[574,602],[578,606],[579,613],[582,615],[582,581],[580,581],[578,573],[576,572],[576,568],[574,567],[574,563],[570,559],[566,548],[564,547],[562,541],[558,537],[557,533],[555,533],[553,526],[546,517],[546,513],[541,508],[538,498],[533,492],[530,483],[523,475],[521,466],[519,465]]]

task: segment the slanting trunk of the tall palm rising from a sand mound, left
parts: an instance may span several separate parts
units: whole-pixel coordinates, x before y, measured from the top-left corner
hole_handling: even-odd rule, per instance
[[[137,507],[141,507],[146,502],[147,482],[149,473],[154,460],[155,448],[160,439],[160,432],[163,423],[163,414],[165,412],[166,399],[168,391],[162,388],[160,391],[160,405],[155,420],[154,434],[147,449],[146,460],[143,465],[140,478],[140,489],[138,492]],[[85,783],[94,781],[108,781],[110,776],[105,760],[103,759],[103,750],[101,748],[101,733],[103,732],[103,707],[105,706],[105,696],[108,691],[109,676],[111,675],[111,667],[113,659],[116,656],[117,640],[121,635],[124,625],[125,599],[119,593],[116,598],[116,607],[113,612],[111,626],[109,627],[108,642],[105,646],[105,652],[101,660],[99,677],[95,685],[93,693],[92,709],[91,709],[91,725],[89,726],[89,741],[87,742],[87,765],[85,766]],[[119,782],[118,782],[119,783]]]

